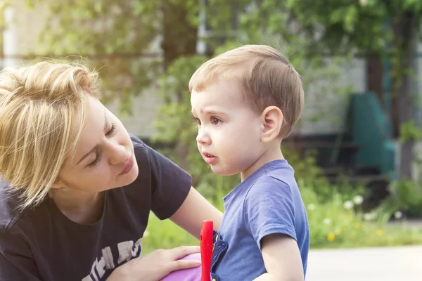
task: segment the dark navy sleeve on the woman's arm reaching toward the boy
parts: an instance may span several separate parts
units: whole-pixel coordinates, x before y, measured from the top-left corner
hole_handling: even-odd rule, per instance
[[[160,219],[169,218],[188,196],[192,178],[160,152],[145,143],[137,145],[139,146],[143,150],[143,153],[136,155],[138,162],[141,163],[139,172],[143,172],[145,166],[151,169],[151,210]]]

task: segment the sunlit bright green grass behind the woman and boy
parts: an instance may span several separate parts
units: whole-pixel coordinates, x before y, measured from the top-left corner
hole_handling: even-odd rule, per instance
[[[326,214],[331,214],[329,224],[324,223]],[[384,221],[365,221],[359,214],[354,215],[353,211],[343,210],[338,206],[331,209],[325,206],[320,211],[316,208],[308,210],[308,216],[311,249],[422,244],[422,228],[409,228],[405,223],[402,226],[392,227]],[[160,248],[170,249],[181,245],[198,244],[199,241],[195,237],[172,221],[160,221],[153,214],[150,216],[146,235],[142,240],[143,253]]]

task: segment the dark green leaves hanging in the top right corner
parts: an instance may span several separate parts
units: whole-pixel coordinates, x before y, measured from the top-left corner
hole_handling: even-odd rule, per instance
[[[392,40],[389,22],[397,22],[410,13],[420,16],[420,1],[287,0],[286,6],[301,28],[315,43],[331,51],[357,48],[368,53],[383,53]]]

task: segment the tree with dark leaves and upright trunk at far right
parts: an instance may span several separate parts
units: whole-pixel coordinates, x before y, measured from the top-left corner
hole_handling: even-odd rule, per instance
[[[314,46],[320,51],[344,53],[354,48],[367,58],[375,58],[378,64],[385,58],[391,61],[393,105],[397,106],[397,124],[402,141],[399,178],[411,179],[414,141],[421,136],[414,122],[412,65],[421,26],[422,2],[286,0],[286,6],[292,18],[300,22],[300,31],[312,38]],[[381,79],[378,82],[381,83]],[[379,92],[378,97],[382,98]]]

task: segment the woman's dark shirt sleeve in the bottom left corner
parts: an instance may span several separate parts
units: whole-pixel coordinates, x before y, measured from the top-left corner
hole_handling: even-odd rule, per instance
[[[32,251],[18,231],[0,229],[0,280],[41,280]]]

